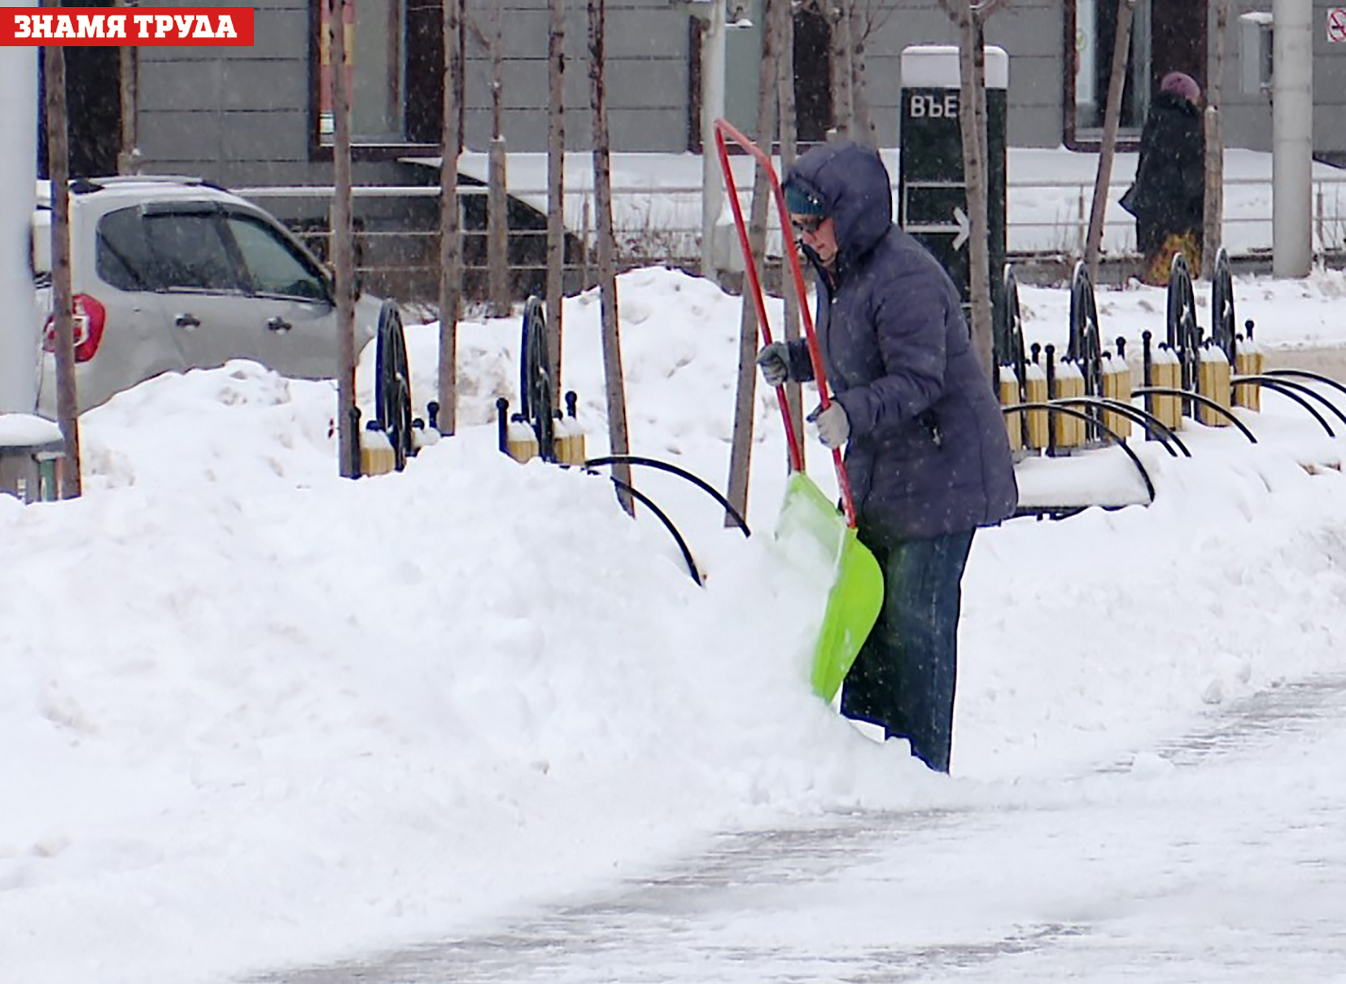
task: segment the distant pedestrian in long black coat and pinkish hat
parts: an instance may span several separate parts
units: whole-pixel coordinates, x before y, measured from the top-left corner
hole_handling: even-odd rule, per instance
[[[1170,71],[1159,83],[1140,132],[1136,182],[1121,198],[1136,217],[1136,246],[1145,257],[1141,279],[1163,287],[1174,253],[1201,269],[1206,207],[1206,136],[1201,86]]]

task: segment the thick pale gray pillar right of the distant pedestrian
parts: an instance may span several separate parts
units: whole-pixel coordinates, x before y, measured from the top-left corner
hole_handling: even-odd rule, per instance
[[[1314,262],[1314,3],[1272,4],[1272,273]]]

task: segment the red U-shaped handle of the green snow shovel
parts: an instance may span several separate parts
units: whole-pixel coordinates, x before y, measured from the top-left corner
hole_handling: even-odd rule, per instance
[[[748,287],[752,291],[752,303],[756,307],[758,324],[762,326],[762,338],[767,345],[771,343],[771,327],[766,320],[766,303],[762,299],[762,280],[758,277],[756,260],[752,256],[752,246],[748,242],[748,229],[743,221],[743,206],[739,205],[739,192],[734,186],[734,175],[730,171],[730,152],[724,144],[725,137],[756,157],[758,164],[762,167],[771,184],[771,195],[775,198],[775,207],[781,215],[781,236],[786,244],[785,249],[781,252],[785,253],[786,260],[790,264],[794,291],[800,297],[800,318],[804,323],[804,337],[808,339],[809,345],[809,359],[813,362],[813,378],[818,384],[818,398],[822,404],[822,409],[826,409],[832,405],[832,397],[828,396],[828,380],[826,373],[822,369],[822,350],[818,347],[818,337],[813,328],[813,312],[809,311],[808,292],[804,287],[804,269],[800,267],[800,253],[797,249],[791,249],[794,241],[790,230],[790,211],[785,207],[785,192],[781,191],[781,180],[777,178],[775,168],[771,166],[771,157],[763,153],[756,144],[736,129],[728,120],[715,121],[715,149],[719,152],[720,171],[724,174],[724,184],[730,192],[730,207],[734,210],[734,225],[739,233],[739,248],[743,250],[743,267],[747,272]],[[794,433],[794,424],[790,420],[790,412],[785,401],[785,386],[777,386],[775,393],[781,402],[781,416],[785,417],[785,437],[790,444],[790,467],[794,471],[802,471],[804,451],[800,447],[800,439]],[[845,513],[847,525],[853,528],[855,501],[851,497],[851,479],[847,477],[845,462],[841,460],[841,448],[832,448],[832,463],[837,471],[837,489],[841,491],[841,509]]]

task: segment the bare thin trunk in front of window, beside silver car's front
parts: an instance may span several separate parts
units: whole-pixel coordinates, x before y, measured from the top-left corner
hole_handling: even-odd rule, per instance
[[[330,0],[332,65],[332,215],[331,248],[336,272],[336,432],[341,474],[359,478],[359,433],[355,417],[355,252],[350,198],[350,93],[346,92],[346,4]]]

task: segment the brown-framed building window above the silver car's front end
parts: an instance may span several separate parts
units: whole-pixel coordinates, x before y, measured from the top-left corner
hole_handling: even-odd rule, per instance
[[[314,127],[318,145],[331,147],[330,11],[327,0],[314,7]],[[392,148],[437,144],[441,0],[354,0],[346,8],[346,32],[351,143]]]

